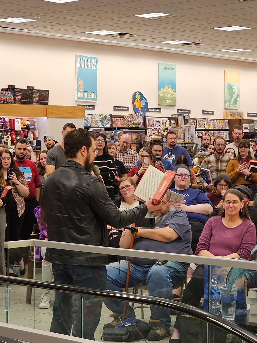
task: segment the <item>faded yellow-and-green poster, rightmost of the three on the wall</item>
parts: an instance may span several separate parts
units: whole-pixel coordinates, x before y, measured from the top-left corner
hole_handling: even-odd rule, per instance
[[[240,71],[224,70],[224,108],[240,107]]]

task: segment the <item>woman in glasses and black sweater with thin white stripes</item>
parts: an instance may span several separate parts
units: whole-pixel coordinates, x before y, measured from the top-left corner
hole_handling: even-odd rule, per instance
[[[96,158],[94,165],[98,166],[100,175],[105,183],[105,188],[112,200],[115,199],[113,180],[116,175],[116,167],[113,157],[109,155],[107,148],[106,135],[102,132],[96,132]]]

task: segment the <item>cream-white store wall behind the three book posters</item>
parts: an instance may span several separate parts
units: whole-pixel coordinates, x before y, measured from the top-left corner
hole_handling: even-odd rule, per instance
[[[244,117],[246,112],[257,112],[255,63],[17,34],[0,33],[0,60],[5,61],[0,86],[35,85],[49,89],[50,105],[83,104],[74,100],[75,54],[98,57],[99,100],[88,102],[96,106],[88,113],[119,114],[113,112],[113,106],[130,106],[133,113],[131,96],[141,91],[149,107],[162,108],[159,116],[167,117],[182,108],[191,109],[192,118],[203,117],[201,110],[215,110],[211,118],[222,118],[224,69],[241,71],[240,110]],[[176,107],[158,106],[158,62],[176,64]],[[72,119],[48,119],[49,132],[58,139],[64,121]]]

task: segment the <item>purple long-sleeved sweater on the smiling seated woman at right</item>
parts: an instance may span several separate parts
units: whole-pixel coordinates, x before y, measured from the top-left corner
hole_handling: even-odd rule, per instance
[[[200,250],[208,250],[215,256],[226,256],[236,252],[241,258],[252,260],[251,251],[256,243],[253,222],[246,220],[236,227],[228,228],[221,219],[220,216],[215,216],[206,222],[195,255]]]

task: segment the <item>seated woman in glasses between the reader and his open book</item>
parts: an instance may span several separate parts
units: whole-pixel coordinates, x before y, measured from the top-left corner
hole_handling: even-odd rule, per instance
[[[122,177],[118,183],[118,199],[113,200],[113,203],[119,208],[120,211],[130,210],[134,207],[143,204],[143,202],[134,200],[134,191],[136,189],[135,181],[131,177]],[[123,229],[115,229],[114,227],[107,226],[109,246],[113,248],[120,247],[120,238]],[[121,256],[110,256],[109,262],[116,262],[121,259]]]

